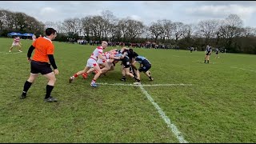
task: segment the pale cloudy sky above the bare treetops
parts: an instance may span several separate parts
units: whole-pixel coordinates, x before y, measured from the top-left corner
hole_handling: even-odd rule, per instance
[[[256,1],[1,1],[0,9],[23,12],[41,22],[63,22],[110,10],[117,18],[130,17],[146,25],[162,19],[192,24],[237,14],[244,27],[256,27]]]

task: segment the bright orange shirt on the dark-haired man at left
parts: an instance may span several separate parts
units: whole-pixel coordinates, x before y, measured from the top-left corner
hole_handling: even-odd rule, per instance
[[[54,44],[49,38],[37,38],[32,46],[35,47],[33,60],[39,62],[49,62],[47,54],[54,54]]]

